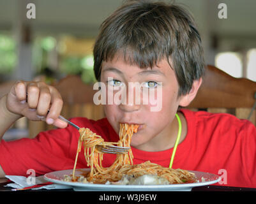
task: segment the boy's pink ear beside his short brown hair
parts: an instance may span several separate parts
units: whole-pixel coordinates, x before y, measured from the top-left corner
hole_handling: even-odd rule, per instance
[[[190,105],[191,101],[193,101],[193,99],[197,95],[197,91],[199,90],[201,84],[202,77],[200,77],[199,80],[195,80],[193,82],[192,88],[188,94],[179,97],[179,106],[185,107]]]

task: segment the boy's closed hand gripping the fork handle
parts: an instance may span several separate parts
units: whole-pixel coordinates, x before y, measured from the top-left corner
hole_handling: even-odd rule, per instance
[[[58,128],[65,128],[66,122],[58,119],[63,99],[56,88],[44,82],[16,82],[7,94],[6,108],[30,120],[45,120]]]

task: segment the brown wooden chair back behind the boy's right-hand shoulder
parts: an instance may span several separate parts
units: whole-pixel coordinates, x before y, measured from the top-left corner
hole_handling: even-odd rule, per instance
[[[247,119],[256,102],[255,94],[256,82],[234,78],[215,66],[207,66],[199,92],[188,108]],[[249,120],[256,126],[255,108]]]

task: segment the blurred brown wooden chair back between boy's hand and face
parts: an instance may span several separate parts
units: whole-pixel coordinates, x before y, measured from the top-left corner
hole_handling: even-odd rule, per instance
[[[104,117],[103,106],[94,105],[93,85],[87,85],[82,82],[79,76],[69,75],[60,80],[56,89],[63,98],[63,110],[61,115],[70,119],[72,117],[87,117],[88,119],[98,120]],[[29,121],[29,137],[33,138],[41,131],[53,129],[43,121]]]

